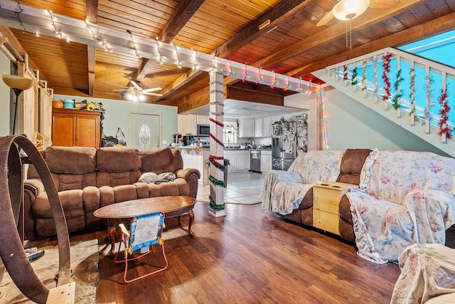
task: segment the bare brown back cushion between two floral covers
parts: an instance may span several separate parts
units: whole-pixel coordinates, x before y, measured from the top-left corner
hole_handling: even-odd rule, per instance
[[[370,149],[347,149],[341,159],[340,174],[337,182],[360,184],[360,172]]]

